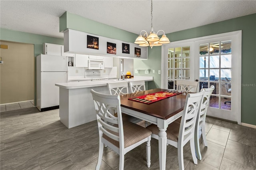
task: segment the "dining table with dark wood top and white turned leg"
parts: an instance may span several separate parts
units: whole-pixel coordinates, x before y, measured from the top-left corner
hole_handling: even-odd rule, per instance
[[[122,113],[153,123],[159,128],[159,167],[160,170],[165,170],[167,147],[166,129],[170,123],[182,116],[182,111],[186,101],[186,95],[175,95],[151,104],[129,100],[133,97],[148,95],[160,91],[170,90],[151,89],[146,91],[140,91],[137,93],[121,95],[120,99]]]

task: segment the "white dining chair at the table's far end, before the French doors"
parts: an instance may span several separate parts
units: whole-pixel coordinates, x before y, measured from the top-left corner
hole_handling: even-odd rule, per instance
[[[196,93],[198,84],[199,81],[176,80],[176,90]]]

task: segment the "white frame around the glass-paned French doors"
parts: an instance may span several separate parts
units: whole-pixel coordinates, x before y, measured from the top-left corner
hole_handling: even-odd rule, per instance
[[[236,111],[237,111],[237,117],[236,117],[236,121],[239,125],[241,125],[241,83],[242,83],[242,30],[239,31],[234,31],[234,32],[228,32],[228,33],[222,33],[222,34],[216,34],[216,35],[211,35],[211,36],[204,36],[204,37],[199,37],[199,38],[192,38],[192,39],[188,39],[188,40],[181,40],[181,41],[176,41],[176,42],[171,42],[168,45],[163,45],[162,46],[162,75],[161,75],[161,88],[162,89],[166,89],[167,87],[167,82],[168,80],[166,79],[167,77],[167,64],[166,61],[168,59],[168,48],[170,48],[171,46],[174,45],[179,45],[179,44],[183,44],[183,43],[192,43],[193,45],[190,46],[190,49],[193,49],[190,53],[190,61],[192,61],[193,59],[195,59],[195,56],[197,55],[195,52],[197,50],[195,50],[196,48],[196,42],[198,41],[203,41],[203,40],[208,40],[208,39],[213,39],[213,38],[221,38],[221,37],[227,37],[227,36],[234,36],[234,39],[236,40],[237,43],[235,43],[234,45],[232,45],[232,47],[238,50],[237,54],[238,56],[236,56],[237,59],[237,64],[236,65],[232,65],[232,68],[235,67],[235,72],[232,73],[232,79],[234,79],[234,81],[236,81],[236,89],[232,89],[232,91],[236,91],[236,97],[232,97],[232,100],[235,100],[234,103],[237,103],[237,105],[235,105],[234,107],[236,107]],[[233,41],[232,41],[233,43]],[[193,62],[193,61],[192,61]],[[196,63],[190,63],[190,74],[191,74],[191,79],[193,80],[192,77],[194,77],[195,74],[195,70],[194,67],[196,67]],[[193,65],[192,65],[193,64]],[[195,78],[195,77],[194,77]],[[198,77],[199,78],[199,77]],[[167,87],[168,88],[168,87]]]

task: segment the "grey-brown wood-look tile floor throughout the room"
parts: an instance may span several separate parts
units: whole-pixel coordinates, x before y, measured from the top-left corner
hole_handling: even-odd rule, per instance
[[[144,123],[142,123],[144,125]],[[185,170],[256,170],[256,129],[206,118],[208,147],[200,139],[202,160],[195,165],[184,146]],[[93,170],[98,157],[96,121],[66,128],[59,109],[39,112],[26,108],[0,113],[1,170]],[[167,146],[166,169],[178,169],[177,149]],[[119,155],[104,148],[100,169],[118,169]],[[158,170],[158,141],[151,140],[151,166],[146,145],[125,155],[125,170]]]

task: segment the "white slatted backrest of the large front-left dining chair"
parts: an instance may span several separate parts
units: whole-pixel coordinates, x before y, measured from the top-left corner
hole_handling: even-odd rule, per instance
[[[92,99],[96,110],[100,138],[103,134],[124,146],[124,131],[119,95],[102,94],[91,89]],[[118,117],[113,116],[110,111],[115,109]]]

